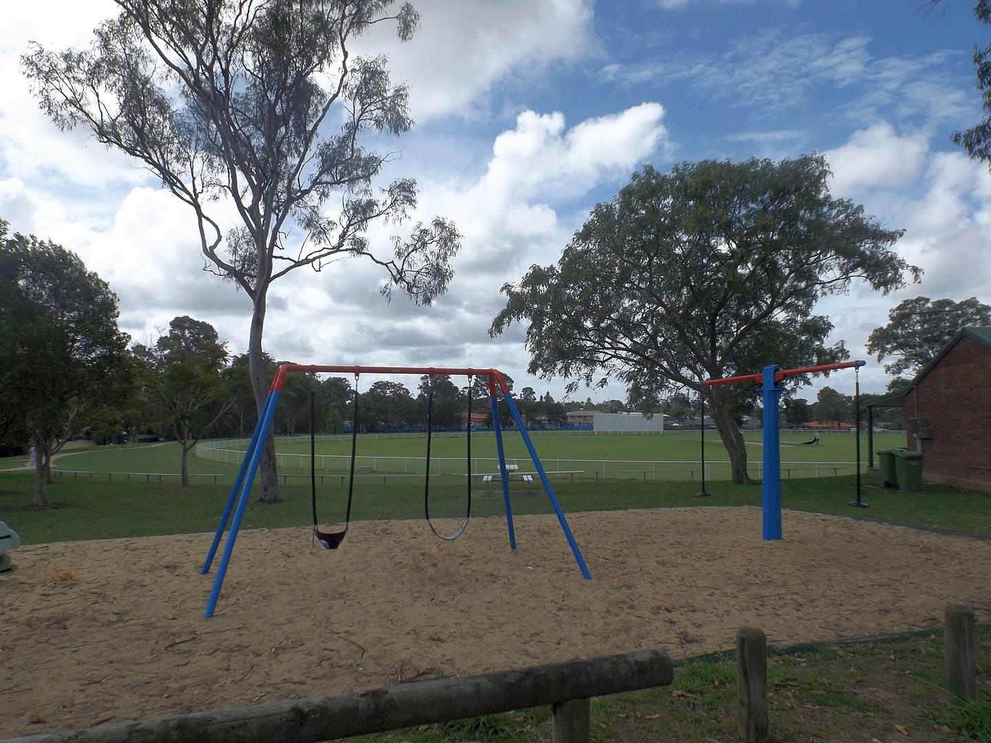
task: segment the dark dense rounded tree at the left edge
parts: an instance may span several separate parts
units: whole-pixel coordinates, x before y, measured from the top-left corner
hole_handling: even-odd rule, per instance
[[[52,457],[126,399],[134,368],[106,281],[52,241],[7,233],[0,220],[0,434],[35,447],[46,506]]]

